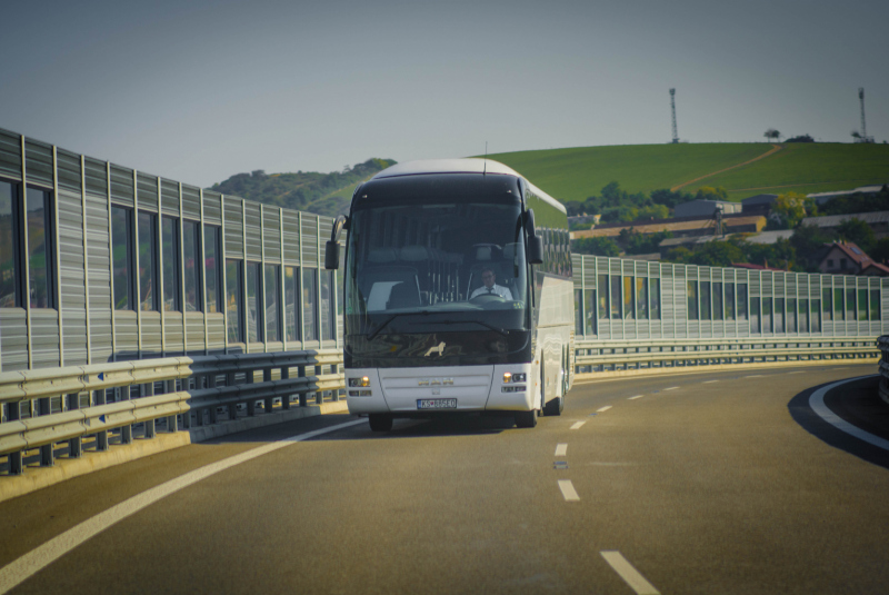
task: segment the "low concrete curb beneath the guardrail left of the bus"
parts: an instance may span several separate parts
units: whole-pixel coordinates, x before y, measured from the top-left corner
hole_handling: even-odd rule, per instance
[[[22,475],[0,477],[0,502],[23,496],[73,477],[80,477],[81,475],[107,469],[114,465],[129,463],[174,448],[181,448],[190,444],[202,443],[229,434],[282,424],[294,419],[342,413],[348,413],[348,406],[344,400],[323,403],[321,405],[310,405],[309,407],[293,407],[278,410],[269,415],[258,415],[238,419],[237,422],[223,422],[212,426],[193,427],[188,432],[177,432],[173,434],[161,432],[156,434],[153,438],[137,438],[132,444],[111,445],[108,450],[102,453],[84,450],[80,458],[57,458],[52,467],[30,467],[26,468]]]

